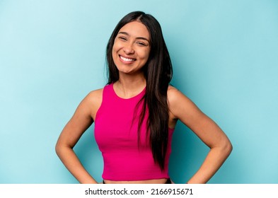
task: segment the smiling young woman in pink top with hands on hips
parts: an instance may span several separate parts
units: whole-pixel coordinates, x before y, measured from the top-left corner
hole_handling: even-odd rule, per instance
[[[57,141],[57,155],[81,183],[98,183],[73,151],[95,122],[103,182],[170,183],[168,162],[178,120],[210,151],[188,183],[206,183],[231,153],[228,137],[183,93],[169,86],[172,64],[156,19],[141,11],[117,24],[107,45],[108,85],[91,91]]]

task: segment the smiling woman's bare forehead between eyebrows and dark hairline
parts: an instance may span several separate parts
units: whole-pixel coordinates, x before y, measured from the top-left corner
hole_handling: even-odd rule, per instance
[[[119,33],[127,33],[129,36],[133,37],[146,37],[149,40],[149,30],[146,26],[138,21],[132,21],[130,23],[125,24],[119,30]]]

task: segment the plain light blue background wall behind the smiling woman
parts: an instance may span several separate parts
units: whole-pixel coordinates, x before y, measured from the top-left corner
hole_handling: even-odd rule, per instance
[[[226,132],[233,152],[210,183],[278,183],[278,1],[0,1],[0,183],[76,183],[54,151],[86,94],[106,81],[120,18],[161,23],[173,86]],[[93,126],[74,148],[101,180]],[[182,183],[208,148],[180,122],[170,176]]]

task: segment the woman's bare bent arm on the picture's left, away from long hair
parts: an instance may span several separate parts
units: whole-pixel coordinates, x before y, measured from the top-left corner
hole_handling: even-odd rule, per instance
[[[71,120],[62,130],[55,147],[62,163],[80,183],[97,183],[83,167],[73,148],[82,134],[93,123],[102,101],[102,92],[102,89],[92,91],[81,101]]]

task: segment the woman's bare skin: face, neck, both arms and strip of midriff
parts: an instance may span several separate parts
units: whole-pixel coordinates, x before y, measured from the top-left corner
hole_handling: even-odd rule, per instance
[[[112,57],[119,70],[119,81],[114,83],[115,93],[121,98],[131,98],[140,93],[146,86],[142,67],[146,64],[151,47],[149,31],[140,22],[134,21],[124,25],[112,49]],[[80,183],[98,183],[83,168],[73,151],[83,132],[93,124],[96,112],[102,102],[103,88],[88,93],[81,101],[71,120],[59,136],[56,152],[66,168]],[[221,167],[232,146],[220,127],[199,110],[183,93],[172,86],[168,87],[169,127],[175,128],[178,120],[195,132],[210,150],[199,170],[188,183],[206,183]],[[111,181],[105,183],[164,183],[166,179],[143,181]]]

